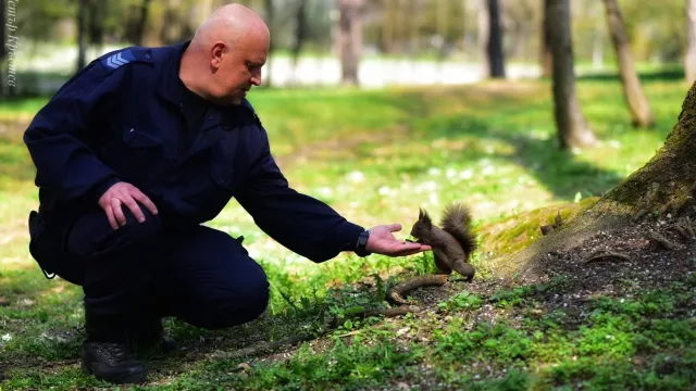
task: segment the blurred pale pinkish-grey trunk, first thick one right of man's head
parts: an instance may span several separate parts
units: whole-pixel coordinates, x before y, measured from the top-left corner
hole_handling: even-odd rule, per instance
[[[362,51],[361,10],[363,0],[338,0],[338,48],[341,79],[345,85],[358,84],[358,66]]]

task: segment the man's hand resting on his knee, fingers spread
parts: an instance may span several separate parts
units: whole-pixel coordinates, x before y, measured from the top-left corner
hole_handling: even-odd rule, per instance
[[[130,213],[133,213],[138,222],[145,223],[145,214],[142,214],[136,201],[145,205],[153,215],[158,213],[154,203],[138,188],[127,182],[117,182],[110,187],[109,190],[99,198],[99,206],[107,213],[111,228],[119,229],[120,225],[126,225],[126,216],[122,210],[123,205],[126,205],[130,210]]]

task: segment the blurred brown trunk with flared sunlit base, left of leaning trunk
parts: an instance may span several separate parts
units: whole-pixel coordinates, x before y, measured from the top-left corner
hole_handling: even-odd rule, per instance
[[[562,149],[589,147],[595,143],[595,135],[587,125],[575,96],[569,1],[545,0],[546,21],[554,55],[554,116]]]

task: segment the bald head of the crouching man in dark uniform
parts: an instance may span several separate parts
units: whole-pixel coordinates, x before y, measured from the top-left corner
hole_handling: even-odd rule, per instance
[[[269,28],[252,10],[240,4],[221,7],[196,30],[179,77],[206,99],[239,104],[251,86],[261,85],[270,39]]]

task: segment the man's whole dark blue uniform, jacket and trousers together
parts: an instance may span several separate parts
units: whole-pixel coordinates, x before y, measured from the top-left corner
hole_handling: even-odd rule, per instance
[[[24,141],[37,167],[33,256],[85,290],[88,316],[178,316],[207,328],[258,316],[268,281],[241,243],[204,227],[234,197],[273,239],[314,262],[352,250],[362,227],[288,187],[248,101],[197,101],[178,78],[188,42],[95,60],[36,115]],[[98,206],[113,184],[159,214],[113,230]],[[129,316],[128,316],[129,318]]]

